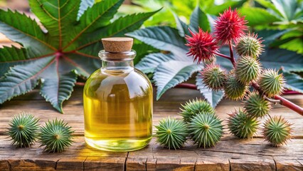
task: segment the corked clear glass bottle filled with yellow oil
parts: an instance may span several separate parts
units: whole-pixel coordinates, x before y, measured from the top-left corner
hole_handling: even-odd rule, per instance
[[[83,92],[85,141],[107,151],[145,147],[152,134],[152,86],[134,68],[132,38],[102,38],[102,68],[87,79]]]

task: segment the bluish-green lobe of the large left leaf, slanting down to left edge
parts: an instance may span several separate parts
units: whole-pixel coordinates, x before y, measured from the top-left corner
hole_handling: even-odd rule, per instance
[[[53,57],[47,57],[11,68],[4,78],[0,79],[0,103],[33,90],[38,84],[41,72],[52,63]]]

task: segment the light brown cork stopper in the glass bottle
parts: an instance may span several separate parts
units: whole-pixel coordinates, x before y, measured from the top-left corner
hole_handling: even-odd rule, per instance
[[[111,53],[121,53],[132,50],[133,38],[113,37],[102,38],[104,50]]]

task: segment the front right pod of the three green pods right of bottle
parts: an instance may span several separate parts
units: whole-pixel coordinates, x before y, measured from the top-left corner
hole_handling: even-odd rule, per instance
[[[198,147],[213,147],[223,135],[222,120],[212,113],[198,114],[188,125],[191,138]]]

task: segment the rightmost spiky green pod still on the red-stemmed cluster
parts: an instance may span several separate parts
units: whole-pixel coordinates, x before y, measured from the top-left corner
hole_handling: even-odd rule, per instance
[[[283,92],[285,79],[282,74],[272,69],[265,69],[259,80],[260,89],[268,96],[279,95]]]

